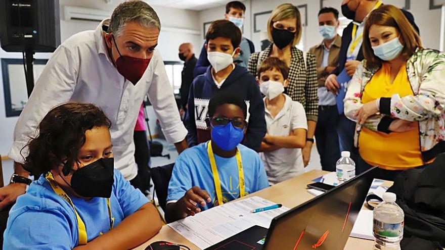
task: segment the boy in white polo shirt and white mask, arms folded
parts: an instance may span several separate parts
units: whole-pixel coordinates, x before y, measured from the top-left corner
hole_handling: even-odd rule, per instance
[[[304,172],[301,148],[306,143],[306,113],[300,103],[283,93],[289,83],[288,75],[289,67],[275,57],[264,60],[258,69],[267,125],[260,156],[270,184]]]

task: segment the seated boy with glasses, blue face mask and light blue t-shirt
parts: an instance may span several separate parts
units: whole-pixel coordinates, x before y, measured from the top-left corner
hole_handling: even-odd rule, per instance
[[[168,186],[167,222],[269,186],[258,154],[239,144],[247,127],[246,114],[246,103],[233,93],[222,92],[210,99],[211,140],[177,158]]]

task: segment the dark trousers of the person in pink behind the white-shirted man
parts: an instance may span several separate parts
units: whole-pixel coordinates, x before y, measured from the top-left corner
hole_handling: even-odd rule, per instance
[[[135,131],[133,134],[135,140],[135,162],[138,165],[138,175],[131,180],[131,185],[146,191],[150,189],[150,148],[147,142],[145,131]]]

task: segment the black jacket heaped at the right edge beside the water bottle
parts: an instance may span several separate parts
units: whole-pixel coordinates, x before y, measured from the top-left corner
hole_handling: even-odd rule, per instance
[[[410,169],[395,177],[388,189],[405,213],[403,250],[432,250],[445,246],[445,154],[423,171]]]

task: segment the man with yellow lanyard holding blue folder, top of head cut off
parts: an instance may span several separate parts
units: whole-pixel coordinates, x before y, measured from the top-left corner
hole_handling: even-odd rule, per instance
[[[326,78],[325,86],[337,95],[336,103],[340,114],[337,132],[340,151],[352,151],[355,122],[348,120],[343,114],[343,97],[346,87],[355,69],[364,59],[362,52],[362,38],[365,20],[368,14],[383,3],[377,0],[343,0],[341,12],[347,19],[353,20],[343,30],[338,66]],[[402,10],[408,21],[419,32],[411,13]],[[354,154],[351,154],[354,159]]]

